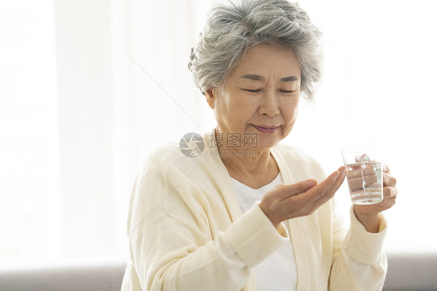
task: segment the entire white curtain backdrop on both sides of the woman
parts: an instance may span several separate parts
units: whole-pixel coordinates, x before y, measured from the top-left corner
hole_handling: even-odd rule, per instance
[[[437,251],[426,226],[437,203],[434,7],[299,3],[324,33],[325,74],[284,142],[327,172],[342,146],[381,142],[399,189],[386,249]],[[0,10],[0,261],[126,255],[147,152],[215,124],[187,67],[209,5],[21,0]],[[347,215],[346,183],[337,199]]]

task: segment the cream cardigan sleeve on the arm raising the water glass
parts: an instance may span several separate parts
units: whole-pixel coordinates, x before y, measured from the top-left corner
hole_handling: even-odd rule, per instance
[[[350,210],[351,225],[344,236],[341,228],[333,229],[333,255],[329,290],[381,290],[387,272],[383,242],[386,219],[380,214],[379,232],[369,233]],[[335,228],[336,221],[333,221]],[[344,239],[342,239],[344,237]]]

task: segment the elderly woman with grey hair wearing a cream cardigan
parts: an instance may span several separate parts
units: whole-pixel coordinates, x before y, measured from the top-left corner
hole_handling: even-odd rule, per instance
[[[297,4],[215,5],[189,68],[217,126],[155,149],[130,201],[130,261],[122,290],[380,290],[386,220],[397,190],[351,207],[333,195],[348,170],[326,177],[291,132],[300,94],[320,79],[320,32]],[[181,143],[183,144],[183,143]]]

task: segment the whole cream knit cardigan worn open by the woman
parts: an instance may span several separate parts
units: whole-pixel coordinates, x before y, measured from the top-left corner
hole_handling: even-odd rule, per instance
[[[212,132],[213,133],[213,132]],[[129,204],[130,260],[122,291],[256,290],[255,267],[291,239],[298,291],[381,290],[387,270],[387,231],[365,231],[351,208],[346,233],[334,200],[313,214],[289,220],[290,236],[277,229],[259,203],[241,214],[213,134],[202,136],[200,156],[186,157],[178,143],[156,148],[137,175]],[[271,153],[284,184],[323,181],[321,166],[298,149],[276,145]]]

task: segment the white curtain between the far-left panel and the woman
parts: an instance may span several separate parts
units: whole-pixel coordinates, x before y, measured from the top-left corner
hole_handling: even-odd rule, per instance
[[[205,124],[187,64],[207,8],[55,1],[64,256],[125,253],[146,153]]]

